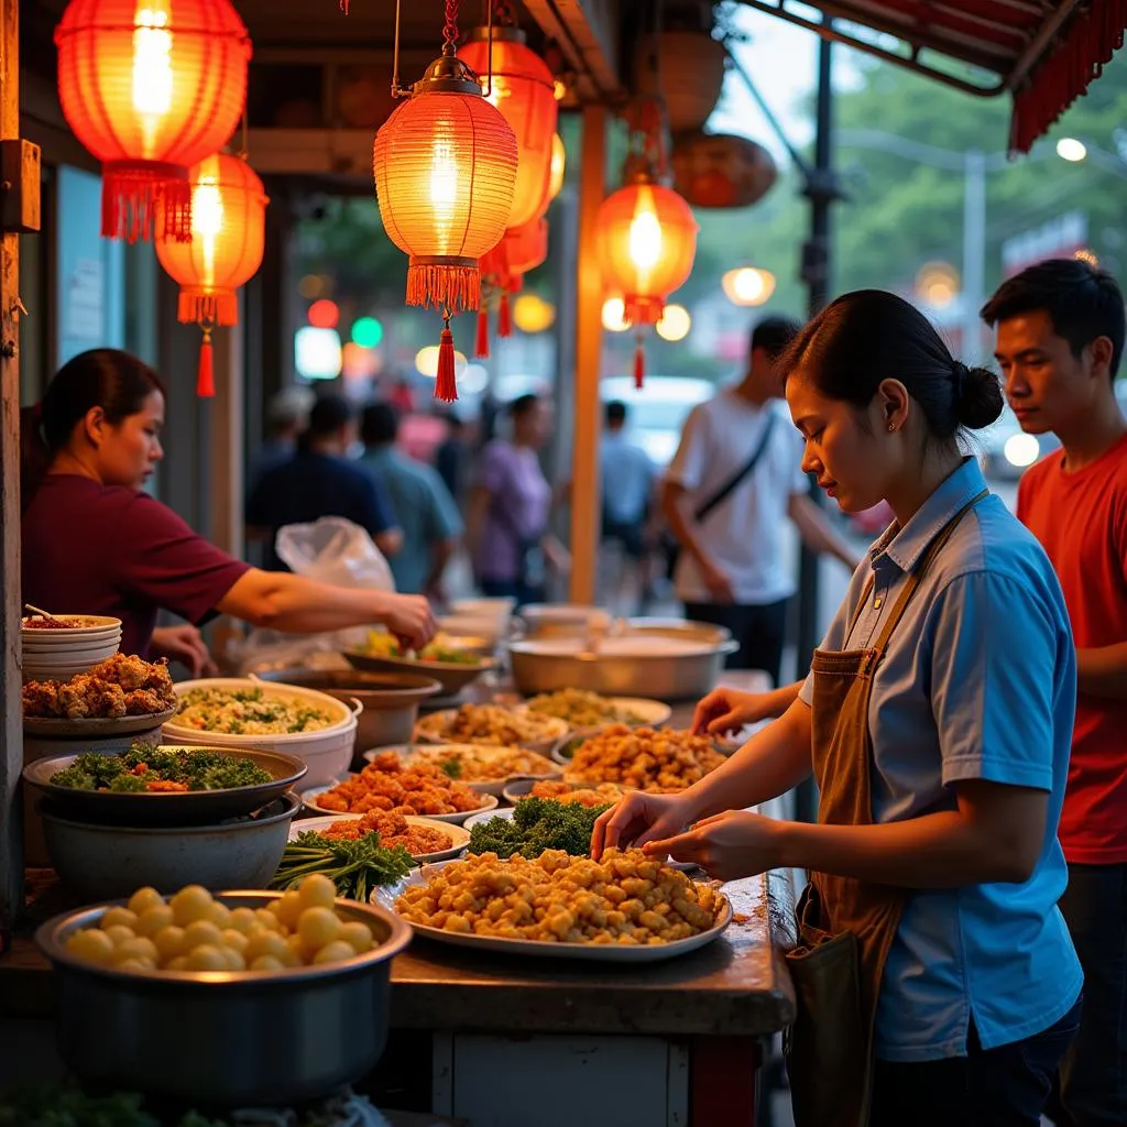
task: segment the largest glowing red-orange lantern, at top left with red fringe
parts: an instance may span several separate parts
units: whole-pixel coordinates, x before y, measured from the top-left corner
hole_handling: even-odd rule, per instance
[[[59,99],[101,161],[101,233],[190,239],[188,168],[227,143],[250,37],[230,0],[71,0],[55,29]]]

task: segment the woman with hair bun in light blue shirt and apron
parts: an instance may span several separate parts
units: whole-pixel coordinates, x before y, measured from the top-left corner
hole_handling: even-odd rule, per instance
[[[623,798],[593,852],[633,843],[722,879],[806,870],[799,1127],[1036,1127],[1080,1014],[1056,833],[1076,662],[1045,552],[959,447],[999,417],[997,378],[873,290],[780,365],[802,468],[844,512],[884,499],[896,520],[781,719],[687,791]],[[744,703],[706,698],[698,727]],[[811,774],[817,824],[746,809]]]

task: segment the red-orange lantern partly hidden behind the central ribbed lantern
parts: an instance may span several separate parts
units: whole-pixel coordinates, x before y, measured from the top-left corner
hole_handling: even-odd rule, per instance
[[[516,187],[506,227],[523,227],[548,207],[559,107],[552,72],[525,45],[524,33],[517,27],[494,27],[490,77],[488,34],[488,28],[474,28],[458,56],[477,72],[487,87],[486,100],[500,110],[516,136]]]

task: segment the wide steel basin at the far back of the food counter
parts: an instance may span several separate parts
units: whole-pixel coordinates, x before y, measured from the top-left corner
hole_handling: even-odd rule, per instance
[[[667,648],[663,649],[663,640]],[[631,641],[637,645],[631,647]],[[738,648],[722,627],[680,619],[630,619],[621,631],[601,640],[511,642],[509,663],[513,681],[526,696],[573,687],[606,696],[676,701],[710,692],[725,658]]]

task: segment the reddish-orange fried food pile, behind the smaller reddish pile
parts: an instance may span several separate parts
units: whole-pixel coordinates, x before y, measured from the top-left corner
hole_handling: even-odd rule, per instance
[[[405,767],[394,752],[378,755],[360,774],[325,791],[317,805],[334,814],[458,814],[480,810],[482,797],[455,782],[438,766],[419,763]]]

